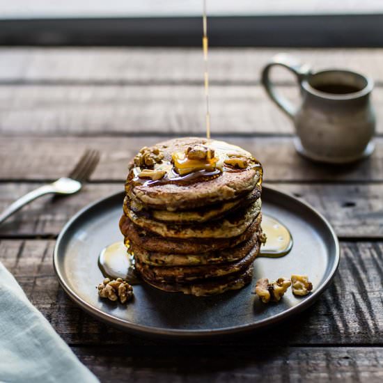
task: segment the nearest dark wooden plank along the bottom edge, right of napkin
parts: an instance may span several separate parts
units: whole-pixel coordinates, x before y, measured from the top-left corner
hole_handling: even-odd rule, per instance
[[[380,347],[75,347],[103,382],[382,382]]]

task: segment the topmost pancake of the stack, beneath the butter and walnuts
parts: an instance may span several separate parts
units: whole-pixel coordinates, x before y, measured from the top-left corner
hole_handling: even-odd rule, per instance
[[[216,151],[216,153],[238,153],[251,158],[251,165],[247,169],[236,171],[222,171],[216,178],[209,180],[197,180],[196,182],[182,185],[181,183],[161,183],[158,185],[143,185],[132,182],[132,172],[128,176],[125,185],[127,195],[132,199],[141,201],[152,209],[174,211],[190,210],[205,205],[211,205],[222,201],[230,201],[243,194],[248,194],[260,183],[262,169],[251,154],[238,146],[233,146],[224,141],[215,141],[197,137],[172,139],[158,143],[164,155],[164,162],[171,161],[171,155],[175,152],[184,152],[189,146],[202,144]],[[154,147],[153,147],[154,148]],[[130,164],[130,171],[134,163]],[[225,168],[224,168],[225,169]]]

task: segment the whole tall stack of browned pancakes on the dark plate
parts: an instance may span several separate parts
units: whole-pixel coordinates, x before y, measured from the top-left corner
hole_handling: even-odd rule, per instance
[[[181,175],[174,153],[201,146],[212,149],[212,169]],[[242,169],[229,158],[242,158]],[[165,175],[150,179],[144,169]],[[144,281],[193,295],[251,281],[262,234],[262,167],[250,153],[222,141],[173,139],[141,149],[129,170],[120,230]]]

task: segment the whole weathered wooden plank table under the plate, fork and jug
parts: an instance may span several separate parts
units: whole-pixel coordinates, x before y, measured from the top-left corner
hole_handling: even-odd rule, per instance
[[[311,203],[341,240],[341,265],[314,306],[278,327],[205,345],[118,331],[81,311],[58,285],[55,238],[84,205],[123,189],[141,146],[203,135],[199,49],[0,49],[0,208],[66,175],[85,148],[102,159],[83,192],[41,198],[1,227],[0,260],[86,366],[103,381],[383,380],[383,49],[292,50],[315,68],[375,79],[377,148],[336,168],[295,153],[292,125],[260,87],[275,49],[212,49],[212,134],[260,159],[268,185]],[[297,97],[291,77],[275,73]],[[309,256],[309,249],[308,249]]]

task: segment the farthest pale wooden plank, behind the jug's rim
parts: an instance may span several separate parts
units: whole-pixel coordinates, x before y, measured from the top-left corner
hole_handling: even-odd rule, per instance
[[[260,70],[274,54],[287,52],[315,70],[338,67],[383,80],[383,49],[210,49],[210,81],[258,83]],[[6,48],[0,49],[0,82],[201,83],[198,48]],[[292,79],[286,72],[277,79]]]

